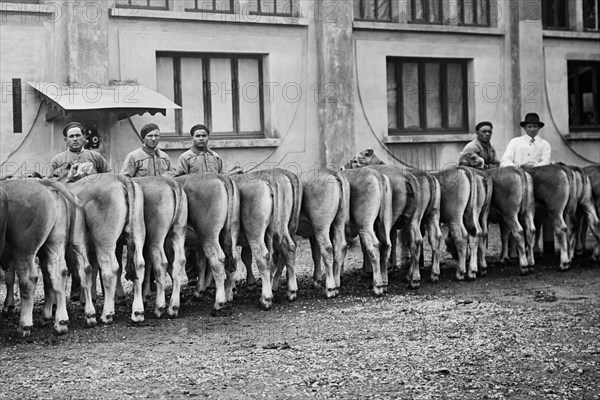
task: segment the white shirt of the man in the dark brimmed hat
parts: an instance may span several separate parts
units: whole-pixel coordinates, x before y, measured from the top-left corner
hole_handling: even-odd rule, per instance
[[[515,165],[531,165],[538,167],[540,165],[550,164],[550,143],[539,136],[531,138],[523,135],[508,142],[506,151],[500,161],[501,167]]]

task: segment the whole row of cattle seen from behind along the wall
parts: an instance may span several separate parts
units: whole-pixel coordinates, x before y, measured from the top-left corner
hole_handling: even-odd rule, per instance
[[[409,285],[420,284],[424,236],[432,249],[431,280],[439,279],[442,231],[458,258],[457,279],[485,274],[488,222],[502,230],[502,259],[508,238],[516,242],[522,273],[534,266],[536,225],[544,218],[560,248],[560,267],[570,266],[578,221],[600,242],[600,166],[586,169],[552,164],[478,171],[458,167],[437,173],[380,165],[372,150],[359,154],[343,171],[284,169],[244,174],[186,175],[129,179],[114,174],[61,181],[12,179],[0,190],[0,264],[7,269],[3,311],[13,306],[14,273],[19,277],[19,331],[28,335],[37,283],[36,257],[44,278],[43,317],[54,329],[68,329],[67,275],[79,276],[86,324],[97,323],[93,303],[95,275],[104,288],[103,323],[110,323],[115,297],[122,294],[120,246],[127,246],[126,277],[133,281],[131,319],[144,319],[144,299],[154,271],[157,317],[176,316],[180,306],[185,246],[196,250],[201,296],[211,280],[213,313],[227,312],[233,300],[238,259],[252,274],[254,259],[262,280],[260,307],[269,309],[285,270],[287,297],[296,298],[296,237],[308,237],[315,264],[313,279],[324,275],[326,297],[340,291],[340,275],[350,238],[360,237],[364,268],[372,271],[373,291],[387,290],[388,269],[396,264],[396,244],[410,255]],[[357,168],[369,166],[369,168]],[[581,218],[579,218],[581,217]],[[400,238],[398,240],[398,237]],[[241,246],[241,257],[238,257]],[[4,251],[2,251],[4,247]],[[117,256],[118,255],[118,256]],[[598,259],[596,248],[594,257]],[[205,271],[205,266],[209,268]],[[323,266],[323,267],[322,267]],[[172,281],[167,306],[166,275]]]

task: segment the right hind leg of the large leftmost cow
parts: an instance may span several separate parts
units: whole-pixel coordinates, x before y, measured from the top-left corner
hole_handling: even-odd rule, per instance
[[[67,276],[69,271],[64,258],[64,245],[47,243],[42,249],[46,258],[46,271],[49,277],[52,297],[56,302],[56,314],[54,317],[54,332],[65,334],[69,330],[69,316],[67,314]],[[45,289],[44,289],[45,290]],[[52,305],[50,305],[50,318],[52,318]]]

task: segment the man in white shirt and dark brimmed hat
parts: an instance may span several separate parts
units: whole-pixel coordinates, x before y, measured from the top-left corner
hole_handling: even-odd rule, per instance
[[[540,129],[544,127],[544,123],[540,121],[540,116],[536,113],[529,113],[520,125],[526,134],[514,138],[508,143],[500,166],[515,165],[522,167],[527,165],[538,167],[550,164],[552,151],[550,143],[538,136]]]

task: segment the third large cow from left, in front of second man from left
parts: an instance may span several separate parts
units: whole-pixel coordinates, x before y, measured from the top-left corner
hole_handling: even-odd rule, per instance
[[[170,317],[176,317],[180,306],[181,277],[185,270],[187,196],[173,178],[149,176],[132,180],[140,185],[144,195],[146,272],[143,295],[146,298],[150,292],[150,270],[153,269],[156,281],[154,314],[160,318],[167,311]],[[165,307],[166,273],[172,281],[168,310]]]

